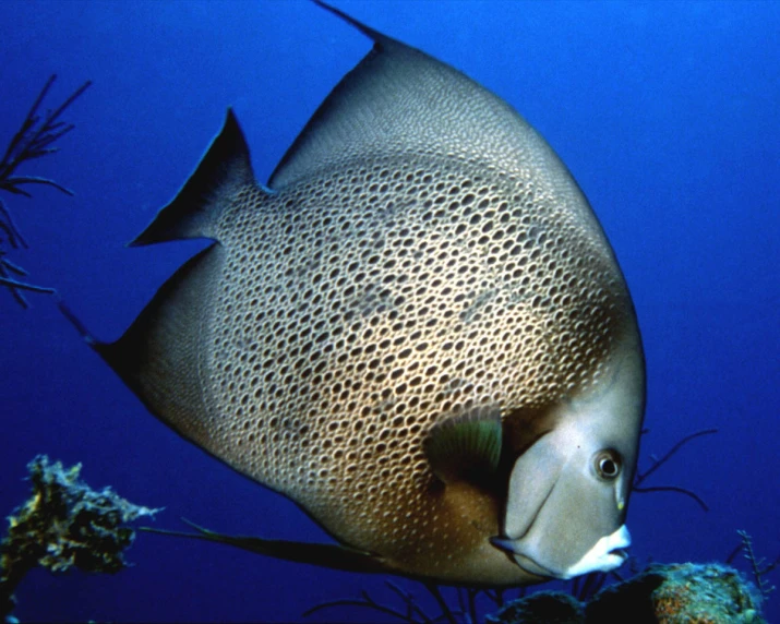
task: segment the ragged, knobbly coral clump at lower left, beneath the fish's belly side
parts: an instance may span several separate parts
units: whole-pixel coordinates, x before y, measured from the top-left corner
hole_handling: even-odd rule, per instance
[[[27,468],[32,496],[8,518],[8,536],[0,542],[0,616],[11,612],[14,589],[36,566],[57,573],[73,567],[119,572],[135,537],[124,524],[159,511],[133,505],[110,488],[92,490],[79,479],[80,464],[63,468],[38,455]]]

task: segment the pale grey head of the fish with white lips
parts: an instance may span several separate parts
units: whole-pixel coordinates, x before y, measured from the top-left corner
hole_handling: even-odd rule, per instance
[[[604,383],[555,406],[554,425],[512,467],[503,536],[491,541],[526,572],[567,579],[627,557],[645,371],[640,349],[613,362]]]

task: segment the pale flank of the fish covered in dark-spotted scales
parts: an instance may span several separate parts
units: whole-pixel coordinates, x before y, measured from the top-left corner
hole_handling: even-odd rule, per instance
[[[247,187],[219,224],[216,435],[347,540],[424,548],[411,524],[435,500],[397,509],[434,479],[427,430],[595,384],[629,310],[589,220],[484,171],[424,154],[341,163],[274,195]]]

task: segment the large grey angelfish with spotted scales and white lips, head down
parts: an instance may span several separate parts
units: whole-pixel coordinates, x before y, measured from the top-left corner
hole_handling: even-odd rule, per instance
[[[500,97],[316,3],[371,51],[265,185],[228,109],[131,244],[212,243],[119,339],[80,331],[153,415],[335,543],[203,539],[451,585],[620,566],[645,360],[587,199]]]

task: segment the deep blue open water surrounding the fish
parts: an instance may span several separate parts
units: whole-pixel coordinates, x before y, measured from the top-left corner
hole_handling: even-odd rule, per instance
[[[337,5],[465,71],[549,141],[588,195],[626,275],[648,365],[640,469],[693,442],[635,495],[640,563],[722,561],[748,531],[780,554],[780,3],[410,2]],[[3,196],[31,249],[12,260],[117,337],[200,242],[125,249],[178,191],[233,106],[264,181],[369,41],[304,1],[5,0],[0,145],[47,77],[50,105],[86,80],[61,153],[22,172],[73,189]],[[149,416],[51,299],[0,290],[0,513],[27,494],[38,453],[230,532],[325,539],[297,507]],[[112,577],[32,573],[22,621],[296,621],[383,578],[141,535]],[[737,560],[744,567],[744,562]],[[769,579],[780,585],[780,573]],[[413,584],[405,584],[413,588]],[[422,595],[420,589],[416,592]],[[767,607],[780,622],[780,593]],[[374,614],[335,610],[329,619]]]

